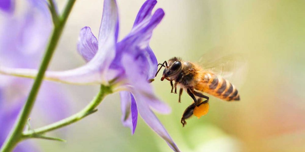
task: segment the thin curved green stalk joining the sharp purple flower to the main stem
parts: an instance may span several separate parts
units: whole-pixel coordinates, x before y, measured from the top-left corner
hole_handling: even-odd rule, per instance
[[[52,123],[50,125],[47,126],[43,126],[41,128],[38,129],[34,129],[34,130],[28,130],[23,132],[23,137],[24,138],[31,138],[34,137],[34,135],[36,134],[42,134],[42,133],[46,133],[52,130],[56,130],[59,128],[62,128],[64,126],[68,126],[72,123],[75,123],[81,119],[83,119],[84,117],[94,113],[97,111],[97,109],[95,109],[103,100],[103,98],[106,95],[109,95],[112,93],[112,88],[111,86],[104,86],[101,85],[101,89],[99,91],[99,93],[95,96],[95,98],[84,108],[82,109],[80,112],[77,112],[76,114],[62,119],[56,123]]]

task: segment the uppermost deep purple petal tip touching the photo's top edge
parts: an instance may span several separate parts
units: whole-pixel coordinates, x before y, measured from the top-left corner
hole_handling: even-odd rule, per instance
[[[137,26],[140,22],[142,22],[144,19],[147,19],[150,17],[152,9],[155,7],[157,1],[156,0],[147,0],[141,7],[141,9],[138,12],[138,15],[135,19],[134,26]]]

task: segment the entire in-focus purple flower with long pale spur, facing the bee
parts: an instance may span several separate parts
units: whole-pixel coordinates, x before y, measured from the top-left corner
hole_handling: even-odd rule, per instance
[[[81,29],[77,50],[87,64],[68,71],[47,71],[46,80],[72,84],[111,84],[120,91],[122,122],[135,132],[138,113],[175,151],[179,151],[163,125],[150,108],[169,113],[170,107],[154,94],[148,81],[157,71],[157,59],[149,47],[153,29],[163,19],[164,12],[152,14],[156,0],[147,0],[134,25],[123,40],[117,42],[118,10],[115,0],[105,0],[99,36],[89,27]],[[37,71],[0,67],[0,73],[34,78]]]

